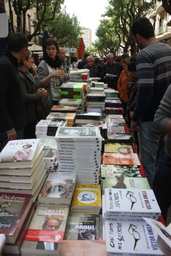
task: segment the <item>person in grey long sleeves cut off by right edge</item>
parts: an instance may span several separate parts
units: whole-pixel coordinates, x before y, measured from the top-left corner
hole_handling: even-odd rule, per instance
[[[165,136],[165,148],[161,152],[156,166],[153,190],[166,221],[168,208],[171,205],[171,85],[166,90],[160,106],[154,116],[156,128],[167,132]]]

